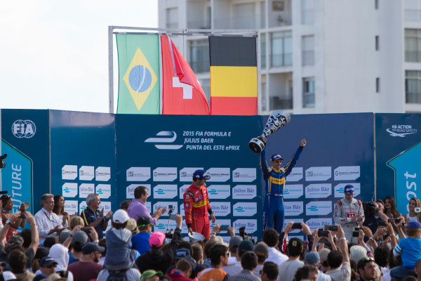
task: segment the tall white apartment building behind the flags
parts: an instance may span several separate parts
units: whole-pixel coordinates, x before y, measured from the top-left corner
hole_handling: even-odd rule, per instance
[[[421,0],[159,0],[159,27],[258,29],[262,114],[421,112]],[[209,95],[207,37],[176,44]]]

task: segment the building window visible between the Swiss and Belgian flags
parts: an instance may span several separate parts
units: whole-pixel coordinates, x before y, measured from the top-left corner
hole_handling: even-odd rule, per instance
[[[189,51],[189,64],[193,72],[209,72],[208,39],[189,41]]]

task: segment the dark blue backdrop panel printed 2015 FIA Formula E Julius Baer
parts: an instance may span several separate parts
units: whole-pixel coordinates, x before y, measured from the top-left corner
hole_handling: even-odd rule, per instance
[[[216,223],[237,232],[245,226],[246,233],[260,236],[262,176],[248,141],[262,128],[259,116],[117,115],[117,199],[133,198],[133,190],[143,185],[149,211],[172,205],[184,217],[183,194],[193,172],[205,169]],[[166,232],[168,223],[175,228],[167,212],[154,229]],[[182,233],[187,233],[185,225]]]

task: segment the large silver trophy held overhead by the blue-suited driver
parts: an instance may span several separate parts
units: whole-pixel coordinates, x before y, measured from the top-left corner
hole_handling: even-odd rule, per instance
[[[272,135],[272,133],[288,124],[290,119],[290,114],[283,110],[276,110],[272,112],[272,114],[269,115],[269,119],[267,119],[262,135],[257,138],[252,138],[250,142],[248,142],[250,150],[256,153],[262,152],[263,148],[265,148],[265,137]]]

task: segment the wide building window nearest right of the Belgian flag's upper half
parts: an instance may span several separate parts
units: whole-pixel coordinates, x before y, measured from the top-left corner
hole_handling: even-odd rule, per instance
[[[293,33],[272,33],[271,40],[271,66],[279,67],[293,65]]]

